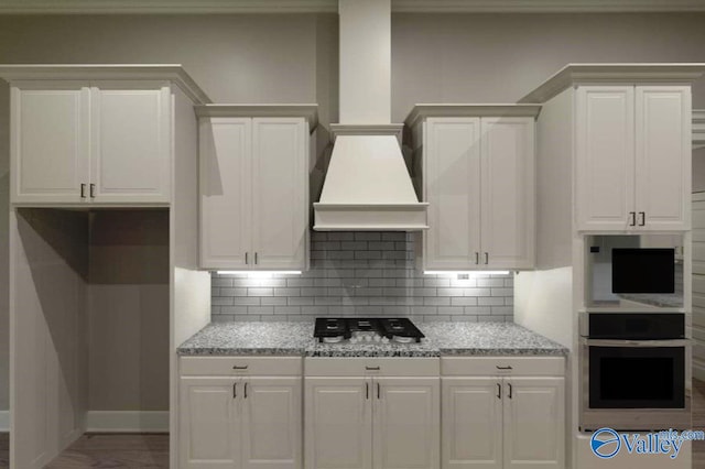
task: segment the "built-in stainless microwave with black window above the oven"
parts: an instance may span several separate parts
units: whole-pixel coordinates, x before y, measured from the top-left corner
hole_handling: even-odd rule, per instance
[[[683,307],[682,234],[587,237],[588,307]]]

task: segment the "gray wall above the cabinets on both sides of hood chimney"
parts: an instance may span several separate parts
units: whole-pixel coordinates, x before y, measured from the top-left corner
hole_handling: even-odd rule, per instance
[[[568,62],[705,62],[705,15],[392,18],[392,113],[512,101]],[[220,102],[321,105],[337,120],[334,14],[0,17],[0,63],[182,63]],[[705,108],[705,86],[695,87]],[[0,410],[7,408],[8,97],[0,86]],[[325,132],[319,141],[325,141]]]

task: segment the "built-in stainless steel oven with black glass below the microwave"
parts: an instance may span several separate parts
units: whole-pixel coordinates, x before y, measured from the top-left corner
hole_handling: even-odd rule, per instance
[[[590,313],[581,327],[582,429],[691,427],[684,314]]]

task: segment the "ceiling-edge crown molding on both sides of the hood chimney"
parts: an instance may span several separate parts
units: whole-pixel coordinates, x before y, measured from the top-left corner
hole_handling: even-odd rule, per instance
[[[0,14],[319,13],[337,0],[0,0]],[[392,0],[394,12],[553,13],[705,11],[705,0]]]

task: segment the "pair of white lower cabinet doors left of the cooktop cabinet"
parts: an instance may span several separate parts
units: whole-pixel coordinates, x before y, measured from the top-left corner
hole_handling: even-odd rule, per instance
[[[300,469],[302,378],[181,378],[181,468]]]

